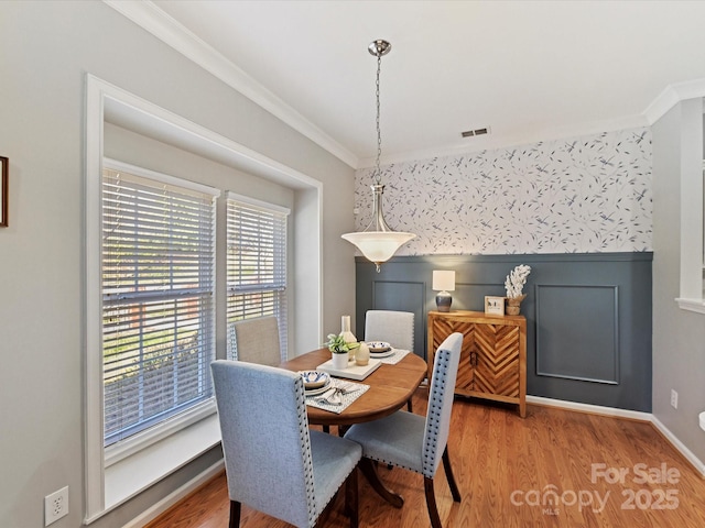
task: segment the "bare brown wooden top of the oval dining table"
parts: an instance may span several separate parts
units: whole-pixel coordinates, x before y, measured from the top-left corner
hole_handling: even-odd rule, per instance
[[[280,366],[289,371],[313,371],[330,359],[328,349],[314,350]],[[370,388],[339,415],[307,406],[308,422],[318,426],[351,426],[383,418],[401,409],[426,376],[426,362],[409,353],[395,365],[382,363],[362,381]]]

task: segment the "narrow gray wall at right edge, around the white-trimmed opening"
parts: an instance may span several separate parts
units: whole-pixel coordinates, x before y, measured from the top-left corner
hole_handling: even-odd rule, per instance
[[[699,144],[684,138],[702,133],[702,103],[676,105],[653,125],[653,415],[705,460],[705,316],[677,307],[681,270],[681,164],[703,158]],[[679,408],[671,407],[671,389]]]

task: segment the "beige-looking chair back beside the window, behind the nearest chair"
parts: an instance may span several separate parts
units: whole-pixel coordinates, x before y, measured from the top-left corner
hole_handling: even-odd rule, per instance
[[[276,317],[242,319],[230,329],[234,359],[270,366],[278,366],[283,361]]]

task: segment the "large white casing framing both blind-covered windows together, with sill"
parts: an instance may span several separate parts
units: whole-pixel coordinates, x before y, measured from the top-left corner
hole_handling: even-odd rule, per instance
[[[119,123],[119,124],[118,124]],[[124,132],[135,133],[134,143],[126,142]],[[139,136],[147,141],[142,141]],[[156,140],[156,142],[151,141]],[[160,482],[166,475],[184,468],[189,461],[207,453],[220,441],[220,428],[215,414],[215,402],[208,400],[193,405],[188,410],[180,411],[159,425],[148,427],[141,432],[134,432],[124,440],[105,447],[105,372],[104,372],[104,318],[102,318],[102,178],[106,160],[104,152],[116,156],[150,160],[159,167],[169,166],[181,154],[173,156],[174,148],[184,151],[186,164],[180,165],[184,170],[191,170],[189,180],[202,183],[220,182],[220,176],[208,172],[209,164],[191,158],[195,154],[202,160],[224,163],[243,173],[256,173],[262,177],[262,184],[272,187],[278,200],[294,202],[296,198],[296,222],[289,226],[289,232],[306,233],[301,243],[293,249],[291,245],[289,258],[292,263],[305,266],[303,273],[297,274],[296,283],[288,285],[290,301],[293,292],[304,292],[297,298],[303,307],[299,310],[296,332],[292,337],[302,348],[311,348],[321,339],[321,266],[322,266],[322,196],[323,184],[279,162],[270,160],[251,151],[223,135],[205,129],[194,122],[165,110],[156,105],[137,97],[121,88],[106,82],[95,76],[86,75],[86,123],[85,123],[85,265],[84,265],[84,471],[85,471],[85,518],[89,525],[108,512],[115,510],[126,501],[137,496],[143,490]],[[214,157],[215,156],[215,157]],[[111,162],[108,162],[111,164]],[[187,168],[188,167],[188,168]],[[213,187],[194,184],[184,179],[170,178],[150,170],[111,164],[109,168],[126,174],[140,176],[148,180],[171,185],[188,196],[191,191],[200,191],[215,199],[219,191]],[[164,170],[162,168],[162,170]],[[180,173],[182,174],[182,173]],[[188,174],[188,173],[183,173]],[[216,184],[217,186],[218,184]],[[247,184],[242,184],[243,186]],[[282,187],[283,186],[283,187]],[[245,188],[245,187],[243,187]],[[288,194],[285,189],[291,189]],[[218,262],[217,288],[226,287],[226,200],[218,204],[217,220],[218,240],[216,260]],[[223,207],[220,207],[223,206]],[[204,219],[204,233],[213,217]],[[293,222],[292,222],[293,223]],[[213,231],[209,231],[213,233]],[[209,258],[209,257],[208,257]],[[220,266],[219,263],[223,263]],[[204,261],[202,268],[206,273]],[[291,274],[291,268],[286,272]],[[210,295],[213,298],[213,295]],[[216,310],[226,307],[227,295],[220,289],[216,295]],[[127,300],[127,299],[126,299]],[[204,314],[202,328],[208,322]],[[216,316],[217,334],[227,332],[225,327],[226,314]],[[281,319],[280,322],[285,321]],[[282,333],[286,330],[282,327]],[[206,339],[210,336],[204,334]],[[286,341],[282,340],[283,344]],[[213,343],[213,340],[212,340]],[[217,343],[225,349],[225,343]],[[213,346],[209,344],[208,346]],[[291,346],[291,344],[290,344]],[[145,385],[144,385],[145,386]],[[147,427],[148,424],[144,424]],[[214,468],[202,473],[198,479],[208,477]],[[219,471],[219,469],[215,470]],[[193,482],[185,486],[193,485]],[[203,481],[202,481],[203,482]]]

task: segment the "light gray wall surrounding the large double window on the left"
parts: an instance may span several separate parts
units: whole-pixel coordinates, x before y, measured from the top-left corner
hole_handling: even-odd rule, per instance
[[[0,230],[0,524],[44,526],[43,497],[83,493],[85,81],[93,74],[306,174],[347,207],[323,205],[323,328],[354,310],[354,172],[98,1],[0,2],[0,155],[10,227]],[[308,200],[295,196],[294,202]],[[321,337],[323,339],[323,336]],[[217,460],[217,450],[91,526],[122,526]]]

